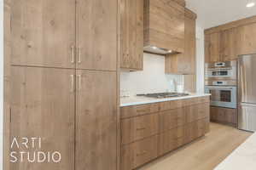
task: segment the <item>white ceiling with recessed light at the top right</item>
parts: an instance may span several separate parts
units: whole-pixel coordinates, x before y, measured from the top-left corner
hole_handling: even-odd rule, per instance
[[[187,8],[198,15],[198,25],[205,29],[256,15],[256,5],[252,8],[246,7],[247,3],[256,3],[256,0],[186,0],[186,2]]]

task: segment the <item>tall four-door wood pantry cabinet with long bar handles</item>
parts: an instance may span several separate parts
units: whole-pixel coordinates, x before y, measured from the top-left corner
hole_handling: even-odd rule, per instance
[[[119,0],[9,4],[9,137],[42,139],[11,150],[59,151],[61,162],[4,169],[119,170]]]

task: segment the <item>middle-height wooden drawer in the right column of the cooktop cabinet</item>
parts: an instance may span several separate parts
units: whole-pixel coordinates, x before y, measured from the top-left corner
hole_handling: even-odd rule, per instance
[[[209,110],[210,105],[208,103],[185,107],[186,122],[195,122],[199,119],[209,117]]]

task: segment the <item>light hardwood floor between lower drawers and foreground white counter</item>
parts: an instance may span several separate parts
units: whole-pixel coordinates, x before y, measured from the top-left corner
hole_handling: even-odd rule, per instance
[[[252,134],[217,123],[210,127],[206,136],[139,170],[212,170]]]

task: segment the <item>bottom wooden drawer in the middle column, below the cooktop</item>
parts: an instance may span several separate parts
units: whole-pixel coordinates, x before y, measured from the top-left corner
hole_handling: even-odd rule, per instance
[[[159,135],[159,156],[166,154],[171,150],[177,149],[184,144],[184,127],[176,127],[172,130],[160,133]]]

